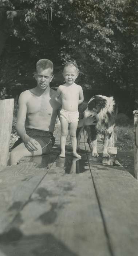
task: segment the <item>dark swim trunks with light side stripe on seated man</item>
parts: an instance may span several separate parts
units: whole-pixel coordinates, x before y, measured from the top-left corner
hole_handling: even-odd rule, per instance
[[[51,152],[52,147],[55,143],[55,138],[52,132],[42,131],[38,129],[25,129],[25,130],[29,137],[39,142],[39,144],[42,147],[42,155],[49,154]],[[23,140],[19,138],[13,145],[12,149],[17,147],[22,142]]]

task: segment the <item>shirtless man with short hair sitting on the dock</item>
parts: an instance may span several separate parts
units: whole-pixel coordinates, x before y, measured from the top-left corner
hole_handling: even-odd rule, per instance
[[[53,63],[42,59],[36,63],[35,88],[20,94],[16,130],[20,136],[13,145],[10,164],[16,165],[22,157],[48,154],[54,144],[52,135],[60,104],[56,91],[50,89]],[[94,118],[82,119],[78,127],[94,124]]]

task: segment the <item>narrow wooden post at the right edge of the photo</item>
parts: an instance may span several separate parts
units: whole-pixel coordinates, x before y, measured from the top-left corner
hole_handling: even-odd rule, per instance
[[[138,110],[133,111],[134,114],[134,173],[138,179]]]

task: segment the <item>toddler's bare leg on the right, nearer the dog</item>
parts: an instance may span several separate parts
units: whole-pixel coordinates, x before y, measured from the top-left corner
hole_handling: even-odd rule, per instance
[[[78,122],[74,122],[74,123],[70,124],[71,144],[72,144],[74,157],[81,158],[81,155],[79,155],[76,152],[76,149],[77,149],[76,129],[77,129],[77,127],[78,127]]]

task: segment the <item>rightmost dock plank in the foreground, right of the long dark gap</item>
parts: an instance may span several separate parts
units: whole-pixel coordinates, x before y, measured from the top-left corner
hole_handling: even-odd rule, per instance
[[[91,173],[114,256],[137,256],[137,180],[128,172],[101,165],[91,165]]]

